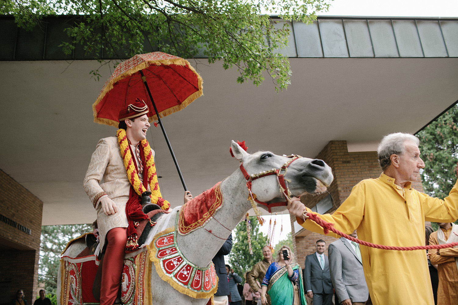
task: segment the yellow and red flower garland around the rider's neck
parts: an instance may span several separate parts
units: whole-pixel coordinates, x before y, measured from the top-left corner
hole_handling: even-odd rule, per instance
[[[138,195],[142,195],[143,192],[147,191],[143,186],[140,178],[138,177],[135,163],[132,160],[131,150],[129,149],[129,142],[124,129],[118,129],[116,132],[119,147],[121,150],[122,160],[124,162],[125,171],[127,172],[127,178],[134,187],[135,192]],[[148,184],[151,188],[151,202],[158,204],[163,210],[168,210],[170,203],[162,198],[161,191],[159,189],[158,177],[156,174],[156,166],[154,164],[153,152],[149,143],[146,139],[140,142],[143,148],[143,155],[145,156],[146,170],[148,175]]]

